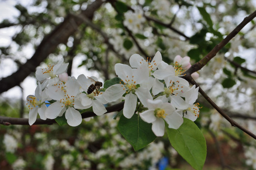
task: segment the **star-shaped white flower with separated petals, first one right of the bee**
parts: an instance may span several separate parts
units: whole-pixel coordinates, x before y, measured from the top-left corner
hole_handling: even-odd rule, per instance
[[[147,88],[138,87],[138,85],[148,81],[148,67],[131,68],[128,65],[116,64],[115,73],[122,79],[123,84],[120,82],[120,84],[108,87],[105,90],[104,98],[107,102],[114,102],[126,93],[123,115],[130,119],[136,108],[137,97],[144,106],[147,106],[148,99],[152,99]]]

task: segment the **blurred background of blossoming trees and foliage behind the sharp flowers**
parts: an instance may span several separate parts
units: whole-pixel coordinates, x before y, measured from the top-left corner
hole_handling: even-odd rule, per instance
[[[197,62],[254,12],[256,4],[253,0],[33,0],[17,1],[15,8],[19,15],[0,23],[2,34],[12,33],[1,40],[1,93],[17,85],[26,91],[29,84],[23,80],[34,77],[42,61],[56,62],[62,57],[69,63],[70,76],[82,70],[103,81],[115,77],[115,63],[128,64],[134,53],[147,58],[161,51],[167,63],[176,55]],[[132,23],[137,24],[125,24],[126,13],[142,11],[144,20],[134,17]],[[253,133],[255,27],[252,20],[199,71],[196,80],[222,110]],[[28,117],[24,96],[18,99],[2,93],[1,116]],[[208,148],[204,169],[256,169],[255,140],[231,127],[202,96],[198,102],[203,108],[196,124]],[[120,135],[121,127],[117,129],[115,114],[84,121],[78,127],[1,125],[0,167],[161,169],[162,158],[167,158],[166,169],[191,168],[170,146],[168,136],[134,152],[134,146]]]

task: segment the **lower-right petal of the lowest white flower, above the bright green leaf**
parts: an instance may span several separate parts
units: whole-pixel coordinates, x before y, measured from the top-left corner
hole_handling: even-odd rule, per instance
[[[180,125],[183,123],[182,116],[174,111],[171,115],[165,117],[165,121],[169,125],[169,128],[178,129]]]

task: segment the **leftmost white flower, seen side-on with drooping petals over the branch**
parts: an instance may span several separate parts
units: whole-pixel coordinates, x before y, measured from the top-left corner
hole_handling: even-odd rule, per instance
[[[28,95],[28,123],[29,125],[33,125],[37,119],[39,114],[40,119],[46,120],[45,110],[46,104],[44,103],[47,100],[46,89],[42,92],[42,86],[38,82],[38,86],[35,90],[35,95]]]

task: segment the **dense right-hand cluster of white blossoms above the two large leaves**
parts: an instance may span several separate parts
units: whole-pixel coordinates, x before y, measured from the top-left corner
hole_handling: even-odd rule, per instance
[[[129,62],[131,66],[115,65],[120,84],[104,92],[107,102],[117,101],[125,95],[123,115],[126,118],[130,119],[137,112],[142,120],[152,123],[156,136],[163,136],[165,122],[169,128],[178,129],[183,123],[182,117],[192,121],[199,117],[199,103],[194,104],[199,89],[195,85],[190,87],[189,82],[180,77],[184,72],[180,65],[186,63],[168,65],[162,61],[159,51],[152,60],[133,54]]]

